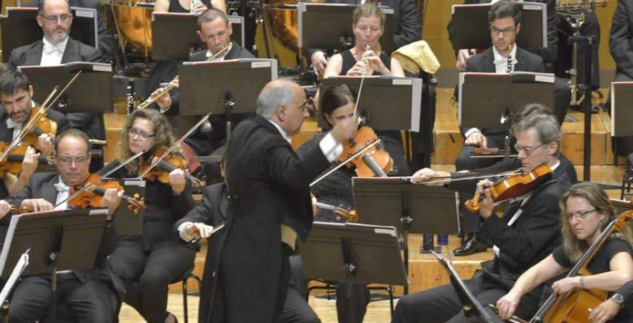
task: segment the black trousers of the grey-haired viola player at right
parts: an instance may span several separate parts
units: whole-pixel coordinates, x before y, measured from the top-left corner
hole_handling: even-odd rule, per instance
[[[509,290],[501,288],[486,281],[482,272],[476,272],[473,279],[464,281],[475,297],[484,306],[496,304],[499,298]],[[515,313],[518,317],[529,319],[538,310],[538,299],[534,294],[540,295],[540,289],[535,293],[526,294],[521,298]],[[466,322],[463,305],[455,292],[452,284],[446,284],[434,289],[428,289],[416,294],[402,296],[393,313],[392,323],[416,323],[416,322]],[[481,322],[478,317],[468,318],[468,322]]]

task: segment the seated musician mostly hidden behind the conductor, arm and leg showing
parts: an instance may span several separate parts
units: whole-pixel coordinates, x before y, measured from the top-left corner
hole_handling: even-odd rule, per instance
[[[224,167],[226,166],[226,154],[222,154],[220,162],[220,171],[224,176]],[[214,227],[224,223],[226,215],[229,213],[229,187],[226,186],[226,179],[221,183],[216,183],[205,188],[203,199],[200,204],[196,205],[186,216],[181,218],[174,225],[180,238],[184,242],[190,242],[193,239],[209,238]],[[217,236],[212,237],[216,239]],[[217,240],[217,239],[216,239]],[[206,261],[210,265],[211,255],[213,254],[214,242],[209,242],[207,247]],[[209,267],[211,268],[211,267]],[[202,289],[208,288],[206,284],[210,279],[205,280]],[[292,283],[292,281],[291,281]],[[308,305],[305,298],[302,297],[295,286],[290,286],[286,303],[283,305],[283,312],[279,317],[281,323],[319,323],[319,317]]]

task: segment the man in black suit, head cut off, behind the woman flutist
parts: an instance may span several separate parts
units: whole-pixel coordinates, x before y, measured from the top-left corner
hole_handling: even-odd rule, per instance
[[[328,4],[364,4],[362,0],[328,0]],[[393,43],[395,48],[413,43],[422,39],[421,15],[416,8],[416,1],[413,0],[383,0],[380,6],[393,9]],[[420,2],[420,13],[423,12],[424,1]],[[314,74],[318,77],[323,75],[328,60],[324,51],[310,49],[307,56],[312,62]]]

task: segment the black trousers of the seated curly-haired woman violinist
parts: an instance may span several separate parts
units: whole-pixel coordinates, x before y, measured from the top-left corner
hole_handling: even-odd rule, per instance
[[[196,251],[164,245],[143,251],[141,244],[122,242],[110,256],[115,275],[125,286],[124,301],[150,323],[165,322],[169,284],[193,265]],[[134,285],[138,284],[138,288]]]

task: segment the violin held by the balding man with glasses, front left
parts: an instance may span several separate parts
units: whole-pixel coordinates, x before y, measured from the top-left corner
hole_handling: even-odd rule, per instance
[[[117,180],[98,180],[98,178],[99,176],[96,173],[89,174],[88,178],[84,180],[84,183],[96,182],[93,186],[89,187],[89,189],[84,190],[78,195],[75,195],[75,197],[69,199],[68,208],[87,209],[92,207],[101,207],[101,201],[103,200],[103,195],[106,194],[106,190],[114,188],[115,190],[120,191],[123,189],[122,185],[117,182]],[[78,190],[82,190],[82,188],[84,188],[84,184],[70,187],[70,195],[75,194]],[[134,214],[139,214],[141,211],[146,209],[145,202],[143,202],[143,198],[141,198],[139,194],[134,194],[132,197],[123,195],[122,199],[129,202],[127,208],[134,211]]]

